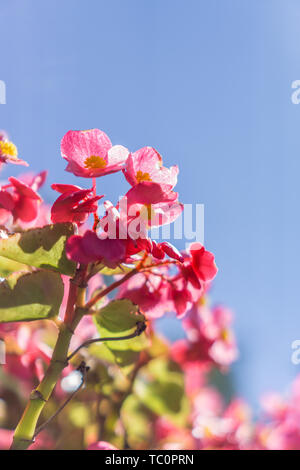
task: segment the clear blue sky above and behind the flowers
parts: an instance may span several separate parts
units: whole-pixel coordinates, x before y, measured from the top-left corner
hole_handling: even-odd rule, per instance
[[[0,0],[0,15],[0,127],[21,156],[75,182],[60,138],[99,127],[178,163],[181,200],[205,204],[213,299],[235,312],[238,392],[284,391],[300,372],[299,0]]]

